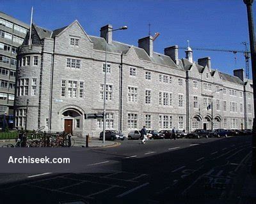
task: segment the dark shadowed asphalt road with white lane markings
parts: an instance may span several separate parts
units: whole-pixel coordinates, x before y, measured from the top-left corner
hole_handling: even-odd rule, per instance
[[[0,203],[241,203],[251,140],[125,140],[76,149],[88,157],[81,161],[88,173],[1,173]]]

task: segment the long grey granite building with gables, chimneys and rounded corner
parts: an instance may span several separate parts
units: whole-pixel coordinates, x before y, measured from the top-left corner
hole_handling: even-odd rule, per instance
[[[32,45],[27,35],[17,56],[17,127],[99,136],[102,119],[84,114],[102,113],[106,71],[106,129],[252,128],[252,81],[243,69],[221,73],[209,57],[193,61],[190,47],[186,59],[177,45],[158,54],[152,36],[138,47],[114,41],[112,33],[106,39],[111,29],[105,25],[96,37],[77,20],[54,31],[33,24]]]

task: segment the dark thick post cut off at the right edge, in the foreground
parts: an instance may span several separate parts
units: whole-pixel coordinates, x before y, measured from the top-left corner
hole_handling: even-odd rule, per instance
[[[250,37],[250,52],[252,59],[252,80],[253,80],[253,105],[254,105],[254,119],[253,119],[253,135],[252,135],[252,174],[256,175],[256,44],[253,27],[252,4],[253,0],[244,0],[247,8],[249,37]]]

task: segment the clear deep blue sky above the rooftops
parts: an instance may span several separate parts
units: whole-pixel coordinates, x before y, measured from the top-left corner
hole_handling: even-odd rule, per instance
[[[163,54],[164,48],[178,45],[180,59],[188,40],[192,49],[243,51],[242,42],[250,43],[243,0],[1,0],[0,11],[29,24],[32,6],[33,22],[49,30],[78,20],[87,34],[100,36],[100,27],[106,24],[114,29],[127,25],[127,30],[113,33],[113,40],[134,46],[148,36],[150,23],[150,34],[160,33],[154,52]],[[256,2],[252,9],[256,22]],[[230,75],[233,69],[245,69],[243,53],[235,59],[232,52],[193,50],[194,61],[202,57],[211,57],[213,69]]]

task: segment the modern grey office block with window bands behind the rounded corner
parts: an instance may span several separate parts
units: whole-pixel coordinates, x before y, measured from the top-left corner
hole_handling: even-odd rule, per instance
[[[17,48],[29,25],[0,11],[0,115],[13,115]]]

